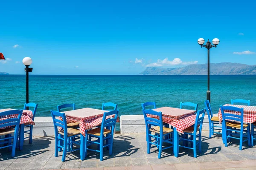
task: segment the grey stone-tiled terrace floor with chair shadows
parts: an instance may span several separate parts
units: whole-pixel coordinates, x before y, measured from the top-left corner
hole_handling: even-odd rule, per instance
[[[167,149],[163,150],[162,158],[158,159],[156,148],[152,148],[150,154],[146,153],[145,134],[116,134],[113,155],[109,156],[105,150],[103,161],[99,161],[99,153],[90,151],[88,151],[87,158],[81,161],[80,153],[76,151],[68,154],[65,162],[61,161],[62,152],[59,152],[58,157],[54,156],[55,141],[53,137],[34,137],[33,144],[25,141],[23,150],[17,150],[15,158],[10,157],[9,151],[0,150],[0,170],[79,168],[96,168],[95,170],[231,168],[230,170],[242,170],[243,168],[248,169],[248,167],[256,169],[256,147],[243,147],[243,150],[239,150],[239,143],[236,140],[225,147],[221,137],[215,136],[208,139],[208,134],[208,131],[203,132],[203,153],[199,154],[197,158],[193,157],[192,150],[180,148],[178,158],[173,156],[172,149]],[[244,143],[244,145],[246,144]]]

